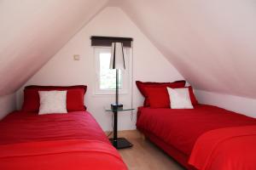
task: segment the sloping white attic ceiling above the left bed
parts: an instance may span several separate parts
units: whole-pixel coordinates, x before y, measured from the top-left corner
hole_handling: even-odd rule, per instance
[[[0,3],[0,96],[32,77],[108,0]]]

